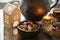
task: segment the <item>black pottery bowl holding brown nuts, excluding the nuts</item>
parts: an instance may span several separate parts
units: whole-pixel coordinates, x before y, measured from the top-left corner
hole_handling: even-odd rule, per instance
[[[21,38],[34,38],[34,37],[36,37],[38,35],[38,33],[39,33],[40,25],[38,23],[36,23],[36,22],[33,22],[33,23],[38,25],[38,28],[36,30],[34,30],[34,31],[26,31],[26,30],[22,30],[20,28],[20,25],[23,22],[26,22],[26,21],[20,22],[20,24],[17,26],[19,36],[21,36]]]

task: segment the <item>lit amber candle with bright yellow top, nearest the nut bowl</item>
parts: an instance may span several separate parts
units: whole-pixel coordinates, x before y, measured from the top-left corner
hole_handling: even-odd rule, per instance
[[[46,31],[51,31],[53,28],[51,18],[49,15],[43,17],[43,26]]]

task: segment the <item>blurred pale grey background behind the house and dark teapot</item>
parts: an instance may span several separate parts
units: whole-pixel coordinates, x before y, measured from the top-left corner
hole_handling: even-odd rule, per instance
[[[21,5],[23,0],[0,0],[0,9],[2,9],[6,5],[6,3],[8,3],[8,2],[9,3],[14,3],[16,1],[18,1],[19,5]],[[55,0],[49,0],[50,4],[53,3],[53,2],[55,2]],[[59,6],[60,6],[60,0],[59,0],[58,5],[55,8],[60,8]]]

